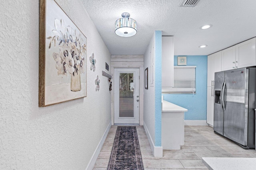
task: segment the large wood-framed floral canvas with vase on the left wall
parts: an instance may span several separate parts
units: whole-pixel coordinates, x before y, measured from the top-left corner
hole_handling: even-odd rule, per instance
[[[86,97],[87,39],[54,0],[40,0],[39,107]]]

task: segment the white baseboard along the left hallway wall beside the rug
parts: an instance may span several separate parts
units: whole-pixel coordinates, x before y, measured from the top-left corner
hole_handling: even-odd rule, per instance
[[[111,128],[111,121],[108,124],[108,127],[107,127],[106,131],[104,132],[104,134],[103,134],[103,136],[102,136],[98,146],[96,147],[96,149],[95,149],[95,151],[94,151],[94,153],[92,155],[92,158],[91,158],[91,160],[89,161],[89,164],[86,167],[86,170],[92,170],[93,169],[94,164],[95,164],[95,162],[96,162],[96,160],[97,160],[97,158],[98,158],[98,156],[100,154],[100,150],[102,149],[103,144],[104,144],[104,142],[105,142],[105,140],[106,140],[106,138],[108,136],[108,132],[110,131],[110,128]]]

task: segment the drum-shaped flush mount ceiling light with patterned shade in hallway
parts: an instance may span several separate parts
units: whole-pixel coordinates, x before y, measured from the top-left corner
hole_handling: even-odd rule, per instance
[[[116,20],[115,33],[120,37],[132,37],[137,33],[137,22],[129,18],[130,14],[128,12],[124,12],[122,17]]]

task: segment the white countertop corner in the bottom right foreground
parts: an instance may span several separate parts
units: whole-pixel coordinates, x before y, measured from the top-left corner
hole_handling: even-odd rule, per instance
[[[256,158],[202,158],[210,170],[255,170]]]

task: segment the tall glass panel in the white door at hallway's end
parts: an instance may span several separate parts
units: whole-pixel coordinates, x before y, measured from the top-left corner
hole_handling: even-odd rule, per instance
[[[134,117],[133,73],[119,74],[119,117]]]

